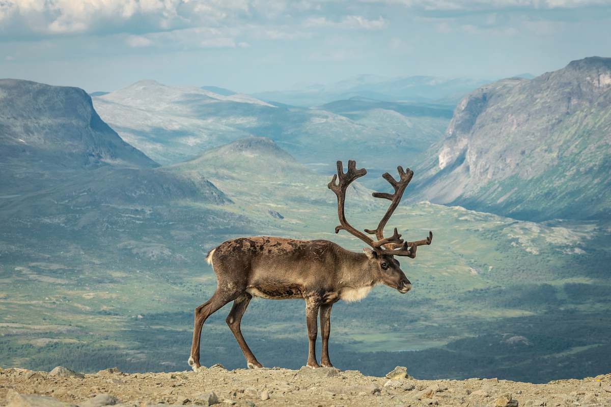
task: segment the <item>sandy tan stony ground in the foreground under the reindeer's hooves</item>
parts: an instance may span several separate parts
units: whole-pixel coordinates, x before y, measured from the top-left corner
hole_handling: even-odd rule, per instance
[[[386,377],[357,370],[226,370],[95,374],[0,369],[0,405],[12,407],[221,406],[604,406],[611,407],[611,373],[547,384],[509,380],[417,380],[404,367]]]

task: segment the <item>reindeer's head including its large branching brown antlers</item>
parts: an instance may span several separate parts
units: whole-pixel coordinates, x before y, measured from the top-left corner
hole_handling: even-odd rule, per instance
[[[403,196],[403,192],[414,176],[414,171],[409,168],[407,171],[403,170],[403,167],[397,167],[397,171],[399,173],[399,181],[395,180],[392,175],[389,173],[384,173],[382,177],[386,179],[392,185],[395,190],[394,193],[386,193],[386,192],[374,192],[373,196],[375,198],[383,198],[390,201],[390,206],[386,211],[386,214],[382,217],[380,222],[378,223],[378,227],[376,229],[364,229],[365,233],[372,234],[376,236],[376,239],[373,240],[365,233],[357,230],[352,225],[348,223],[345,215],[345,203],[346,203],[346,190],[348,189],[348,185],[351,184],[355,179],[360,178],[367,174],[367,170],[365,168],[361,168],[357,170],[356,161],[348,160],[348,171],[346,173],[343,172],[343,164],[341,161],[337,162],[337,174],[333,176],[331,182],[327,185],[329,189],[331,189],[335,195],[337,195],[337,215],[340,220],[340,224],[335,226],[335,233],[338,233],[340,230],[345,230],[352,234],[353,236],[358,237],[363,242],[367,243],[371,248],[365,248],[365,254],[370,261],[371,267],[377,267],[379,272],[379,281],[386,284],[389,287],[393,287],[399,290],[401,293],[406,293],[411,289],[411,283],[408,278],[406,278],[403,271],[399,267],[399,262],[394,258],[394,256],[406,256],[411,259],[416,256],[416,248],[422,245],[430,245],[431,240],[433,240],[433,233],[428,232],[428,237],[423,240],[417,240],[415,242],[404,242],[401,239],[401,235],[398,233],[397,228],[394,229],[392,236],[384,237],[384,226],[392,216],[399,202],[401,201],[401,196]]]

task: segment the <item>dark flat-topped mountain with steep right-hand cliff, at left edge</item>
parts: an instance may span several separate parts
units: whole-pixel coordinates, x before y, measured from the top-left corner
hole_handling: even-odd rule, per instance
[[[79,88],[0,79],[0,160],[29,169],[158,167],[124,142]]]

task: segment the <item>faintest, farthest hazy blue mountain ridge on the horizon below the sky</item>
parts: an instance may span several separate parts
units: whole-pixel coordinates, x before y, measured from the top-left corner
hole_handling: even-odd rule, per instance
[[[455,105],[464,95],[487,83],[482,79],[434,76],[383,77],[358,75],[331,84],[298,84],[291,90],[259,92],[253,96],[295,106],[316,106],[354,96],[384,101]]]

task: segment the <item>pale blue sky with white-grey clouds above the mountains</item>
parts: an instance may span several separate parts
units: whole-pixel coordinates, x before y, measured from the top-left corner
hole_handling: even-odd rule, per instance
[[[611,0],[0,0],[0,77],[262,92],[611,57]]]

